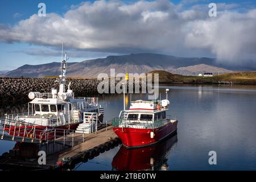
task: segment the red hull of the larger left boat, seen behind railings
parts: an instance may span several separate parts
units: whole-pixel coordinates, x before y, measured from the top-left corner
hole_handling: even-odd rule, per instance
[[[72,125],[63,125],[63,126],[57,126],[54,127],[56,129],[56,135],[62,136],[64,134],[63,130],[76,130],[79,123],[74,123]],[[9,133],[9,135],[14,135],[18,137],[28,137],[28,138],[36,138],[36,139],[45,139],[46,135],[42,135],[43,131],[45,129],[51,130],[53,127],[51,126],[35,126],[35,133],[34,133],[34,126],[11,126],[11,127],[5,127],[5,131]],[[60,130],[58,130],[60,129]],[[54,131],[48,133],[47,138],[49,140],[55,138]]]

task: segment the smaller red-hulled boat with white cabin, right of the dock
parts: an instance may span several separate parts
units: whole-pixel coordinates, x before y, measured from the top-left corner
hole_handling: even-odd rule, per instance
[[[113,119],[115,134],[127,148],[158,143],[177,130],[177,119],[166,115],[170,101],[134,101]]]

